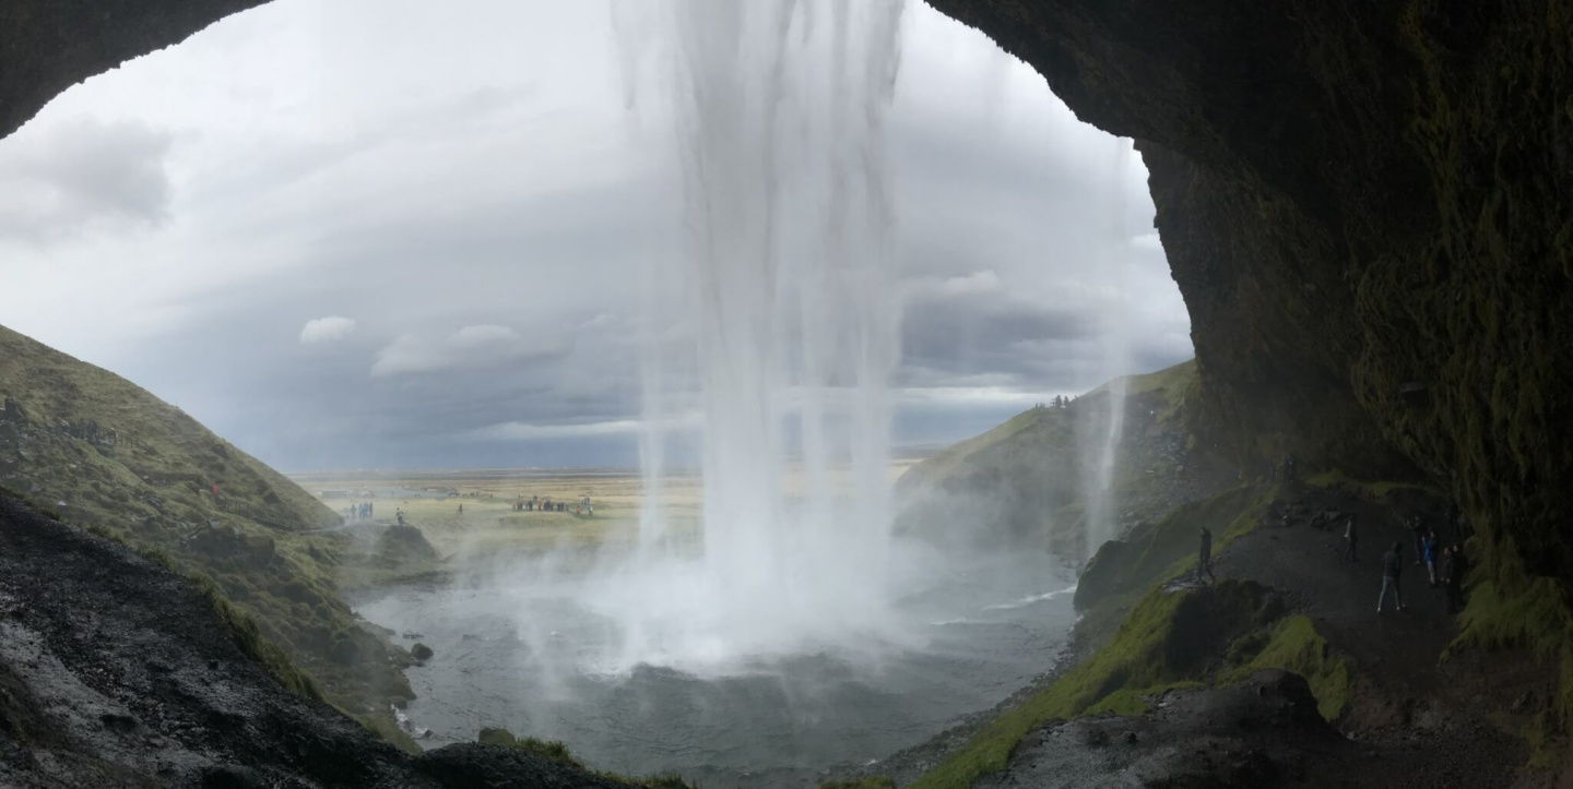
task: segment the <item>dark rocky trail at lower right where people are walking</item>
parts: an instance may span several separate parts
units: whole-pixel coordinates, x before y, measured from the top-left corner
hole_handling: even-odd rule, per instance
[[[1531,712],[1524,699],[1549,687],[1549,670],[1512,654],[1444,660],[1457,629],[1441,588],[1414,564],[1398,517],[1408,508],[1298,486],[1282,505],[1269,523],[1229,544],[1213,569],[1219,580],[1273,586],[1345,657],[1354,684],[1335,725],[1317,714],[1301,677],[1258,671],[1227,687],[1167,692],[1144,717],[1046,725],[980,786],[1543,786],[1543,775],[1523,770],[1527,748],[1510,731]],[[1343,556],[1351,512],[1359,561]],[[1381,553],[1400,541],[1406,608],[1389,602],[1378,615]]]

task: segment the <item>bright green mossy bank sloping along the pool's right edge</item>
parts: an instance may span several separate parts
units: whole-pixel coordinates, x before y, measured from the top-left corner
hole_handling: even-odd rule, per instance
[[[1233,580],[1148,593],[1090,659],[994,718],[912,786],[971,786],[980,775],[1004,769],[1016,743],[1043,723],[1087,714],[1106,699],[1109,712],[1136,709],[1139,695],[1205,679],[1216,654],[1241,632],[1265,626],[1263,616],[1273,616],[1274,608],[1263,605],[1268,596],[1258,583]],[[1125,695],[1112,698],[1120,692]]]

